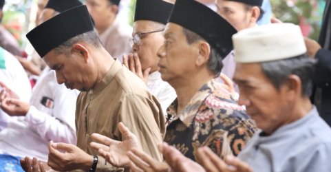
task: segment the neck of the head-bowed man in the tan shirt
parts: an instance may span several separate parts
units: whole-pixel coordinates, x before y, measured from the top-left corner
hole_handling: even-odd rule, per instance
[[[104,49],[100,48],[98,54],[96,56],[98,61],[96,62],[96,69],[97,69],[97,79],[96,83],[100,83],[103,78],[105,78],[107,72],[109,71],[110,67],[115,63],[115,60],[111,55]]]

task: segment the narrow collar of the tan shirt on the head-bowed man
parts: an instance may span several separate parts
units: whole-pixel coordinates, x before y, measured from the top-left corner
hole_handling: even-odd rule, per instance
[[[122,65],[120,64],[120,61],[118,59],[114,62],[114,64],[110,67],[109,71],[107,72],[106,76],[103,77],[103,80],[100,81],[100,83],[96,83],[94,85],[93,89],[89,91],[90,94],[96,94],[103,90],[110,81],[114,78],[114,76],[117,74],[117,72],[122,69]]]

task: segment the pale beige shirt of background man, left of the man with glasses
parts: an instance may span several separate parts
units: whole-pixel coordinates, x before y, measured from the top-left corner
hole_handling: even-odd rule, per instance
[[[132,52],[129,43],[131,34],[131,26],[116,18],[105,32],[99,34],[99,37],[101,42],[103,42],[105,50],[107,50],[113,58],[118,58],[120,62],[122,62],[122,55],[127,55]]]

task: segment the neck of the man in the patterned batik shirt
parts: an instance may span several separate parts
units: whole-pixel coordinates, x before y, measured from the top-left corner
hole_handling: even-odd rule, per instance
[[[215,74],[206,70],[205,72],[191,72],[190,76],[185,76],[185,78],[178,78],[170,81],[169,84],[175,89],[177,94],[177,114],[184,109],[197,91],[199,91],[205,83],[213,78],[215,78]]]

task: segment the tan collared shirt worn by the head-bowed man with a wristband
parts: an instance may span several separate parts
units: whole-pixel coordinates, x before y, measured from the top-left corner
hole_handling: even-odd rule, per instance
[[[100,83],[89,92],[81,92],[77,98],[77,147],[89,155],[98,155],[97,150],[89,147],[92,133],[125,140],[118,130],[118,122],[123,122],[137,136],[142,151],[162,161],[157,148],[165,132],[160,103],[138,76],[116,60]],[[98,156],[96,172],[123,171],[105,164],[105,159]]]

